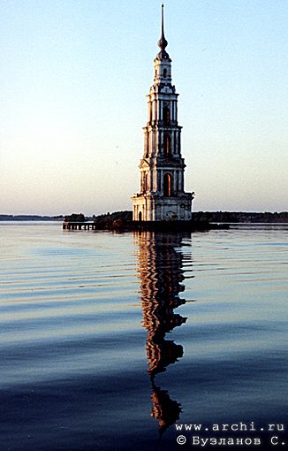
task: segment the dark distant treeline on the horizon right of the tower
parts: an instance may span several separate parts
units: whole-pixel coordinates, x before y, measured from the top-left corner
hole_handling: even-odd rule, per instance
[[[280,213],[254,213],[246,211],[195,211],[194,221],[229,222],[229,223],[287,223],[288,211]]]

